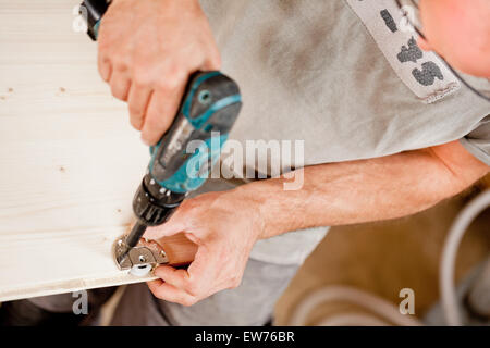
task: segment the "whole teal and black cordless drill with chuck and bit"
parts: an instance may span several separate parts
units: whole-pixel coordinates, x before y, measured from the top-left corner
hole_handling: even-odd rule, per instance
[[[87,34],[94,40],[109,4],[106,0],[85,0],[81,5]],[[230,77],[220,72],[199,72],[191,76],[172,125],[160,141],[150,147],[148,171],[133,199],[137,222],[125,239],[125,251],[119,254],[119,263],[137,245],[147,226],[164,223],[187,192],[204,184],[241,107],[238,86]],[[200,141],[189,144],[193,140]],[[196,148],[193,153],[186,151],[189,145]]]

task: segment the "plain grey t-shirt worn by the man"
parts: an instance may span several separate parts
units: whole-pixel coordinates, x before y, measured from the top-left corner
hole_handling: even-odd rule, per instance
[[[201,4],[221,50],[222,70],[243,94],[232,139],[304,140],[304,164],[311,165],[464,138],[468,151],[490,164],[490,103],[465,87],[432,103],[421,101],[347,2]],[[261,240],[252,257],[301,263],[326,231]]]

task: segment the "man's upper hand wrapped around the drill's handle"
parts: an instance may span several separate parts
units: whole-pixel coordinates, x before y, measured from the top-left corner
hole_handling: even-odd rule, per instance
[[[220,69],[198,0],[115,0],[102,17],[98,67],[127,101],[131,124],[155,145],[175,116],[188,76]]]

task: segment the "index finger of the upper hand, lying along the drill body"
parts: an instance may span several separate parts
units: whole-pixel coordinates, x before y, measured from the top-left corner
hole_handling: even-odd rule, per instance
[[[155,145],[170,127],[181,103],[185,84],[169,91],[155,90],[148,104],[142,139]]]

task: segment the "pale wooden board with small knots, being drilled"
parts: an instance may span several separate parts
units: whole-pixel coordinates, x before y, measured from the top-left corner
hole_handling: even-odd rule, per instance
[[[149,154],[78,2],[0,0],[0,301],[149,278],[112,260]]]

